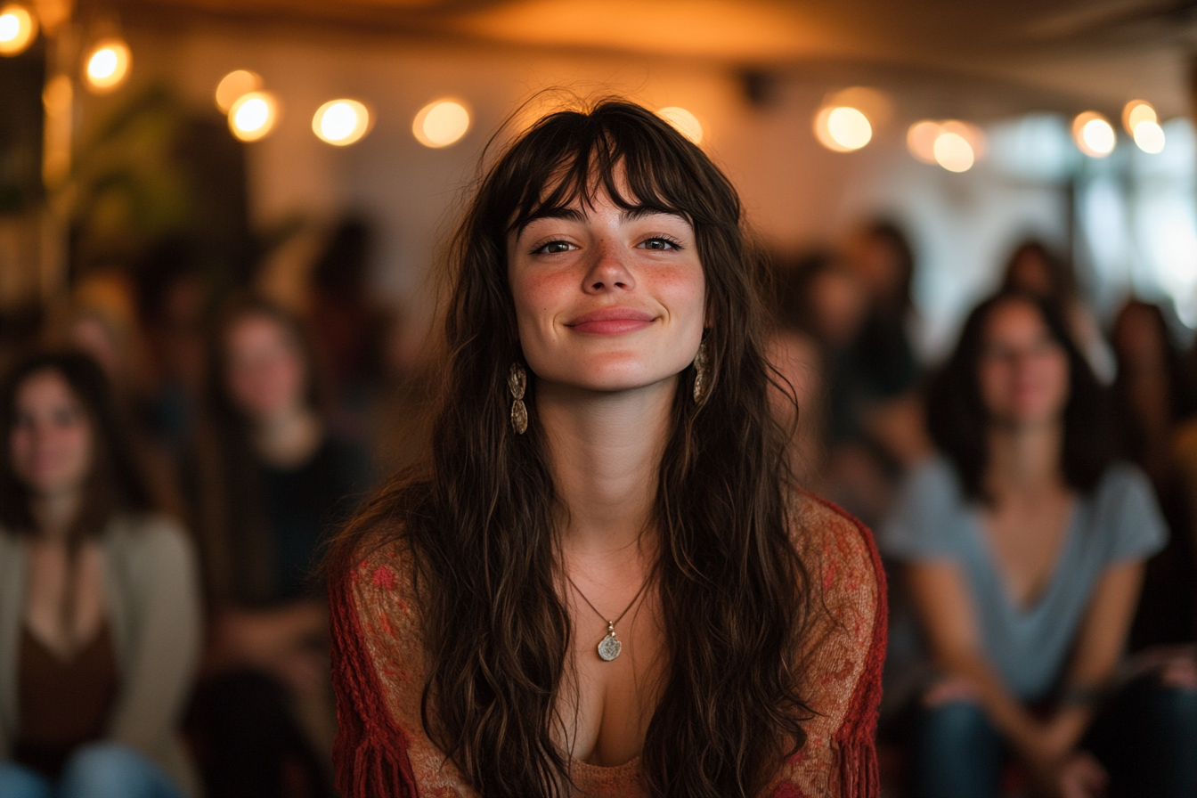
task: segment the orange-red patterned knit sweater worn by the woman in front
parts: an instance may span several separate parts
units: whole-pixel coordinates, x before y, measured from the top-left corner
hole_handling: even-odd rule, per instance
[[[873,536],[838,507],[798,494],[794,542],[821,590],[807,634],[800,695],[815,715],[806,745],[780,765],[766,798],[869,798],[880,792],[874,731],[886,644],[885,575]],[[330,583],[338,786],[346,798],[475,798],[420,721],[426,680],[412,564],[382,547]],[[640,760],[598,767],[573,760],[594,798],[646,797]]]

